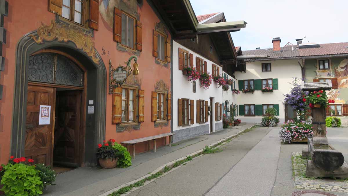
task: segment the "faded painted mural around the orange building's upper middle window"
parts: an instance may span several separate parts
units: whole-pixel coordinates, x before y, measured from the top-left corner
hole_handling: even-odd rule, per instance
[[[99,13],[105,27],[112,31],[113,28],[113,9],[117,7],[128,14],[134,15],[137,20],[140,19],[141,9],[136,0],[101,0],[99,4]]]

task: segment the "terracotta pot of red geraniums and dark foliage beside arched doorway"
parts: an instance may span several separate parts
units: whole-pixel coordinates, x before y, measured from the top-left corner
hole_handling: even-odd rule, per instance
[[[110,169],[117,166],[119,156],[122,155],[118,149],[113,148],[115,140],[110,139],[104,144],[98,144],[97,158],[102,168]]]

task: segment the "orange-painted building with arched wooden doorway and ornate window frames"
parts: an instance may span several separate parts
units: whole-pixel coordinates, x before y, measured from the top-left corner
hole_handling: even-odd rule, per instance
[[[0,3],[6,30],[0,42],[0,164],[13,155],[35,163],[95,166],[103,140],[171,133],[167,96],[174,31],[158,14],[157,2]],[[113,89],[109,62],[113,69],[126,67],[132,55],[139,75],[130,71],[121,88]],[[152,92],[160,98],[155,114]],[[50,106],[48,124],[39,123],[42,106]],[[157,140],[161,145],[163,138]],[[148,150],[148,143],[136,144],[136,153]]]

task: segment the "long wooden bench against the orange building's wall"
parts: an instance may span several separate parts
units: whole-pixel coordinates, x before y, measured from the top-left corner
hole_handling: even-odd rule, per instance
[[[154,136],[149,136],[149,137],[143,137],[135,140],[128,140],[121,142],[121,144],[127,144],[127,150],[129,151],[129,145],[133,146],[133,156],[132,158],[135,159],[135,144],[141,143],[141,142],[147,142],[149,141],[149,152],[151,151],[151,141],[153,140],[153,152],[156,152],[156,139],[158,138],[164,138],[164,145],[167,145],[167,136],[169,136],[169,146],[172,146],[172,137],[174,133],[165,133],[165,134],[160,134],[160,135],[154,135]]]

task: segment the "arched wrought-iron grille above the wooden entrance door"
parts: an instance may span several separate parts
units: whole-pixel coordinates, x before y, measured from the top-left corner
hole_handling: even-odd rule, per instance
[[[71,86],[84,85],[84,72],[70,59],[55,53],[29,57],[28,79]]]

